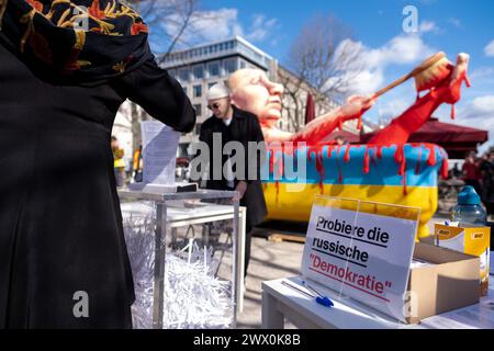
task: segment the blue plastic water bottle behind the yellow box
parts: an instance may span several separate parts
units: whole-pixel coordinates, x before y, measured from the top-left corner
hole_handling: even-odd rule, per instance
[[[460,227],[486,226],[487,214],[473,186],[464,186],[458,195],[458,204],[451,211],[451,219],[458,222]]]

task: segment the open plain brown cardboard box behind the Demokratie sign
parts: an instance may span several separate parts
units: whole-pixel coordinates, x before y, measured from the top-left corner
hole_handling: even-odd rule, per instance
[[[414,259],[433,264],[409,273],[409,324],[479,303],[479,264],[474,256],[417,242]]]

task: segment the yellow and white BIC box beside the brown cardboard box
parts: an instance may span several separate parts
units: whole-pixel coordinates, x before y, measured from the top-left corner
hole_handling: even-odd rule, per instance
[[[490,273],[489,262],[491,256],[491,228],[461,228],[436,224],[434,237],[436,239],[436,245],[441,248],[460,251],[480,258],[480,293],[481,296],[487,295]]]

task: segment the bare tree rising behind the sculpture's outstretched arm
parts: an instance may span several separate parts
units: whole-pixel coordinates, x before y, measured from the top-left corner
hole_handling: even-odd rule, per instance
[[[361,49],[351,42],[351,31],[333,15],[316,15],[293,42],[287,66],[293,73],[280,73],[284,86],[283,112],[299,131],[304,121],[306,93],[310,92],[318,114],[327,112],[328,102],[341,104],[351,82],[360,75]]]

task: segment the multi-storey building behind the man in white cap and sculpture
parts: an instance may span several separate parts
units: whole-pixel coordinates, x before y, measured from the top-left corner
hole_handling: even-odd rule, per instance
[[[278,127],[283,131],[297,132],[305,124],[305,104],[308,93],[315,98],[316,115],[322,115],[338,106],[308,83],[300,83],[296,75],[279,66],[276,59],[240,36],[175,52],[159,61],[160,67],[167,69],[170,76],[181,83],[198,114],[194,131],[180,138],[178,154],[181,156],[187,155],[189,145],[199,139],[202,123],[211,116],[211,112],[207,110],[207,90],[215,83],[226,83],[229,76],[238,69],[261,69],[271,80],[284,86],[282,117],[278,122]],[[296,90],[294,90],[295,86]],[[130,146],[136,144],[131,140],[132,135],[135,134],[135,131],[133,133],[132,129],[135,129],[136,126],[132,125],[132,118],[127,114],[130,111],[139,114],[143,112],[141,110],[136,112],[138,109],[136,106],[130,109],[128,103],[122,105],[115,121],[114,133],[125,140],[123,144],[131,149]],[[347,123],[344,128],[351,133],[358,133],[356,123]]]

